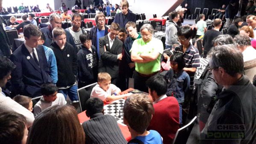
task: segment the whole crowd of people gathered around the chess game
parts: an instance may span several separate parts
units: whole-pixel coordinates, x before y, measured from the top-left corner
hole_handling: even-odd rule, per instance
[[[80,0],[75,3],[81,8]],[[187,124],[195,72],[200,67],[193,29],[182,26],[188,9],[169,13],[164,50],[163,42],[153,38],[151,24],[137,29],[127,0],[121,1],[121,12],[106,26],[106,16],[118,7],[106,3],[106,11],[96,14],[96,26],[90,32],[81,28],[79,13],[65,17],[65,3],[64,13],[52,13],[50,25],[41,29],[29,14],[29,24],[22,26],[25,41],[13,52],[6,32],[1,31],[0,144],[172,143],[177,130]],[[232,30],[223,35],[221,14],[213,21],[213,29],[206,29],[203,14],[196,25],[195,38],[203,39],[203,53],[209,59],[198,99],[199,140],[200,144],[253,144],[256,16],[248,15],[245,26],[244,20],[235,19]],[[62,29],[66,18],[72,26]],[[13,18],[9,23],[16,25]],[[122,93],[132,78],[141,94]],[[77,89],[95,82],[83,108],[90,119],[80,123],[75,109]],[[131,134],[129,141],[115,117],[104,115],[104,103],[119,99],[126,99],[123,120]],[[220,132],[233,137],[216,136]]]

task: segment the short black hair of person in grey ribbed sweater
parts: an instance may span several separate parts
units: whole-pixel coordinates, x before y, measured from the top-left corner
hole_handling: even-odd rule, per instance
[[[97,97],[90,98],[85,102],[85,110],[88,117],[100,113],[103,110],[103,101]]]

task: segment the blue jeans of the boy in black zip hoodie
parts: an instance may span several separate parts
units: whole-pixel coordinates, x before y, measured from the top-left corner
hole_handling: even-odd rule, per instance
[[[78,95],[77,95],[77,84],[66,89],[59,89],[58,92],[62,93],[65,99],[67,99],[67,95],[68,95],[69,99],[73,103],[79,102]]]

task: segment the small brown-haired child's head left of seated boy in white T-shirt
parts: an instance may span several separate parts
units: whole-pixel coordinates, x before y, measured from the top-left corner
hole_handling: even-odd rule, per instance
[[[23,96],[23,95],[17,95],[12,98],[15,102],[29,110],[30,112],[33,111],[33,103],[30,97]]]

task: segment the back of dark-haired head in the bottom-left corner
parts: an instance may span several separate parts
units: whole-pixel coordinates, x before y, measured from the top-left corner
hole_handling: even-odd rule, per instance
[[[26,144],[26,118],[16,112],[0,112],[0,144]]]

